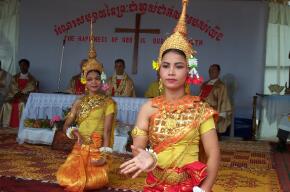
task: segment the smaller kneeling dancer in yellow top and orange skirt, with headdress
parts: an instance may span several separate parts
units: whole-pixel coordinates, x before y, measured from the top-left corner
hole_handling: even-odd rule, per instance
[[[59,185],[66,191],[99,189],[108,184],[106,160],[112,152],[116,105],[111,98],[99,93],[103,67],[95,57],[91,40],[89,60],[82,73],[87,94],[74,102],[63,127],[68,137],[77,139],[56,174]],[[70,127],[73,121],[77,128]]]

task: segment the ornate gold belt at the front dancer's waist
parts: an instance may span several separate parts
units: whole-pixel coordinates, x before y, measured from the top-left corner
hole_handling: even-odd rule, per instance
[[[161,169],[157,167],[152,173],[159,181],[170,185],[186,181],[190,178],[186,172],[178,173],[174,169]]]

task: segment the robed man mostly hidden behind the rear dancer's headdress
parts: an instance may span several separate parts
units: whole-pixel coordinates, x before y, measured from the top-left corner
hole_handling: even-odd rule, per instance
[[[87,62],[87,59],[83,59],[81,61],[80,71],[82,71],[82,67],[85,62]],[[85,86],[81,83],[81,72],[71,78],[68,92],[76,95],[85,94]]]

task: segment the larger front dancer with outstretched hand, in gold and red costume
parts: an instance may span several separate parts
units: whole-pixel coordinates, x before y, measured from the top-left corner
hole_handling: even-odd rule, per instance
[[[218,172],[217,112],[200,97],[185,92],[186,83],[201,81],[195,51],[187,39],[187,3],[183,0],[174,33],[153,62],[164,95],[142,106],[132,130],[135,157],[121,165],[121,173],[131,173],[133,178],[147,172],[145,192],[210,192]],[[145,150],[148,144],[150,149]],[[206,164],[199,161],[201,144]]]

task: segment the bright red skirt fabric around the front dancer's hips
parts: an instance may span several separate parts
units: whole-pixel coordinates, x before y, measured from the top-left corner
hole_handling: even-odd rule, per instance
[[[153,173],[149,172],[147,174],[146,182],[148,185],[153,186],[145,186],[144,192],[192,192],[192,188],[198,186],[207,176],[206,165],[199,161],[187,164],[182,168],[176,168],[175,171],[177,173],[186,172],[190,175],[190,178],[175,185],[168,185],[165,183],[159,183]]]

